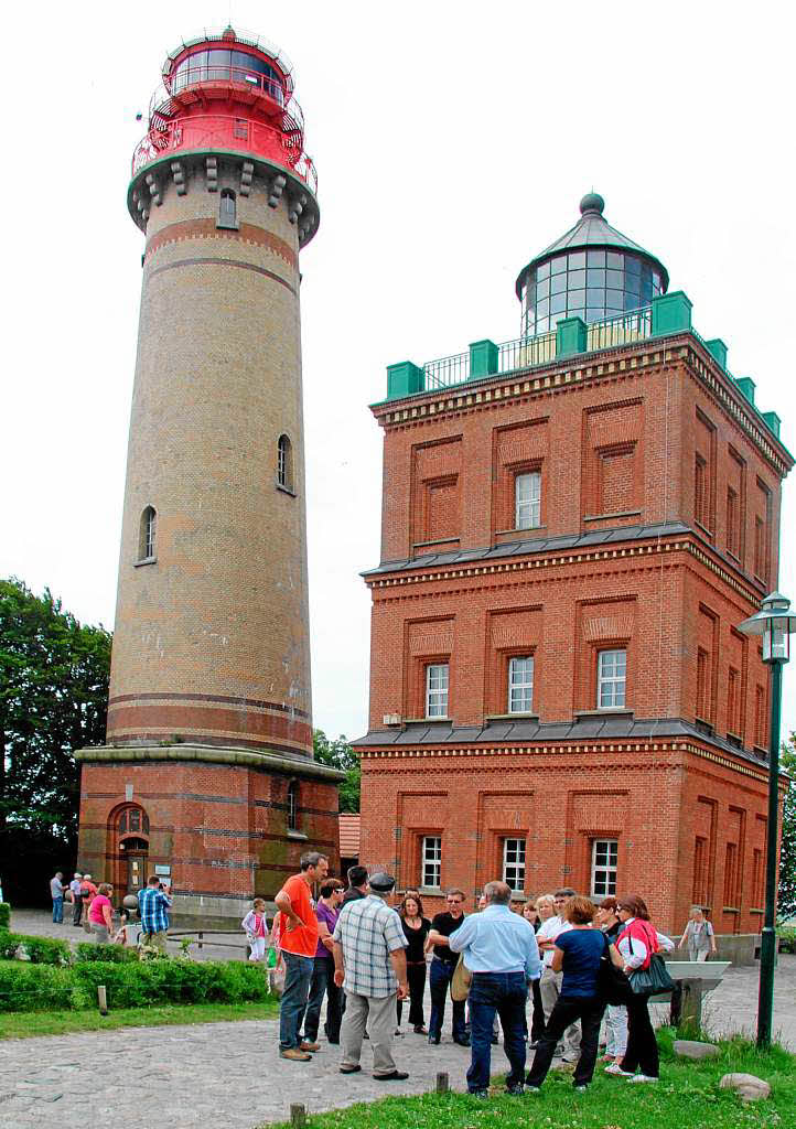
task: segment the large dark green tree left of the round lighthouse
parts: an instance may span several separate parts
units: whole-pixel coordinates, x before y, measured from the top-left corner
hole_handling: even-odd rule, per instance
[[[73,752],[105,741],[111,633],[45,589],[0,580],[0,858],[65,869],[78,830]],[[28,861],[26,861],[26,868]],[[8,881],[8,874],[3,877]]]

